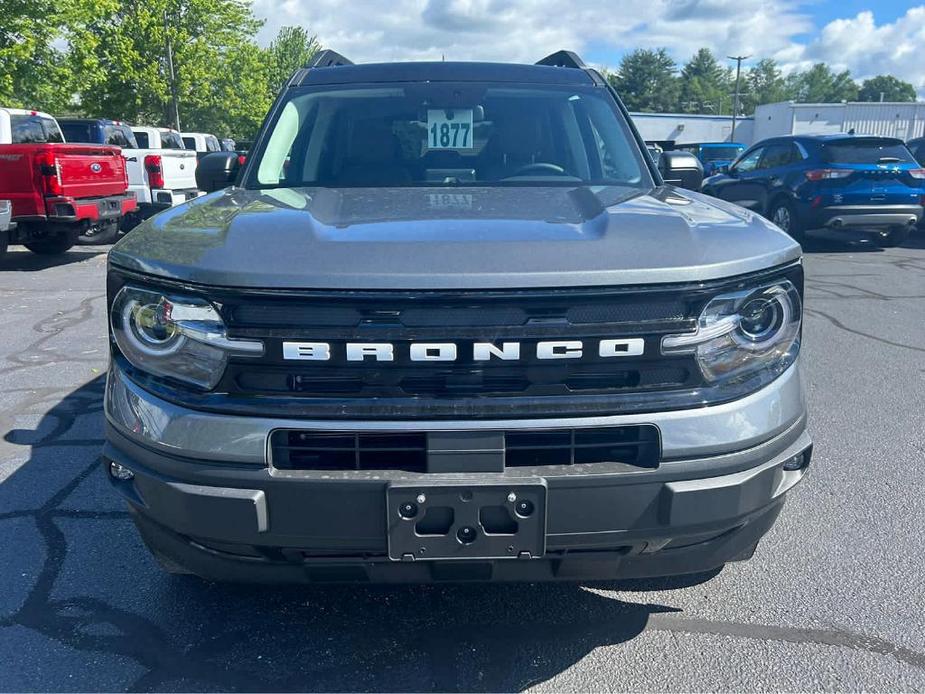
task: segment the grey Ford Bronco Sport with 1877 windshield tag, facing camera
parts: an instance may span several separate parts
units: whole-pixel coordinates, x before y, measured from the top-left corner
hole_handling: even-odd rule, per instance
[[[799,245],[574,54],[326,51],[238,161],[109,256],[105,467],[169,571],[705,572],[807,470]]]

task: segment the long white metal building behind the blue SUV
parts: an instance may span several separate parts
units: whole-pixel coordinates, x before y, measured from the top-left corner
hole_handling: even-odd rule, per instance
[[[782,101],[755,110],[753,141],[780,135],[825,135],[854,130],[910,140],[925,135],[925,102],[797,104]]]

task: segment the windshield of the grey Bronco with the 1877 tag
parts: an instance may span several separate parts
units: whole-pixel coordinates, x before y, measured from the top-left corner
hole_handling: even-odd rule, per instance
[[[300,90],[248,187],[652,184],[600,88],[471,82]]]

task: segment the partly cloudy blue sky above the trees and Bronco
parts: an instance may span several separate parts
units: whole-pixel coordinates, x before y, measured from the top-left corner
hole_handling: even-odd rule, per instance
[[[785,72],[824,62],[856,79],[890,73],[925,99],[925,3],[915,0],[255,0],[266,45],[300,25],[354,62],[534,62],[574,50],[615,68],[635,48],[668,48],[679,63],[774,58]]]

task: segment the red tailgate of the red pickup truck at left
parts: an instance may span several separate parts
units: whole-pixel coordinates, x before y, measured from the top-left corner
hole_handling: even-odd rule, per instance
[[[108,145],[53,145],[62,195],[96,198],[118,195],[128,188],[125,159],[118,147]]]

